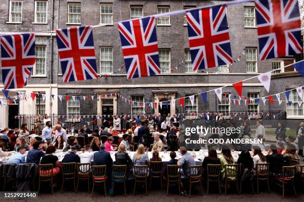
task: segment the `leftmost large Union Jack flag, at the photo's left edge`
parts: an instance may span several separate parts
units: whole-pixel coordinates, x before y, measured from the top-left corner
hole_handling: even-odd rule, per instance
[[[36,61],[35,35],[5,35],[0,44],[4,89],[23,88]]]

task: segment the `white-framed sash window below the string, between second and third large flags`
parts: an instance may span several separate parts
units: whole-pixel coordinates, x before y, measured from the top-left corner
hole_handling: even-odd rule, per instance
[[[100,73],[113,73],[112,47],[100,47]]]

